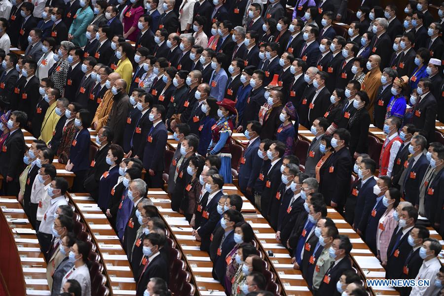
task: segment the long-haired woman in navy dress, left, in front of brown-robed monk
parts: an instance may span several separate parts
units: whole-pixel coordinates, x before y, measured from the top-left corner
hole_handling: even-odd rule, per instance
[[[83,181],[86,171],[89,169],[89,145],[91,136],[88,127],[91,126],[89,111],[82,109],[75,114],[74,125],[78,132],[71,144],[70,159],[66,164],[66,170],[75,174],[73,190],[84,192]]]

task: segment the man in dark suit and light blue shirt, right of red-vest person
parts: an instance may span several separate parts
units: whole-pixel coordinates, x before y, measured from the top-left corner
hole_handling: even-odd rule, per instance
[[[404,199],[413,205],[419,205],[419,185],[429,166],[429,161],[423,150],[427,146],[427,140],[421,135],[411,139],[408,151],[411,154],[403,181]]]

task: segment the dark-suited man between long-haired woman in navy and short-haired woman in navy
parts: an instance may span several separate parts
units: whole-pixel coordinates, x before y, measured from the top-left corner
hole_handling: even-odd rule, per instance
[[[98,131],[96,144],[99,145],[99,150],[94,155],[86,173],[85,182],[83,182],[86,192],[91,194],[91,197],[96,201],[99,199],[100,178],[110,168],[110,165],[106,162],[106,157],[113,137],[114,132],[108,126],[104,126]]]

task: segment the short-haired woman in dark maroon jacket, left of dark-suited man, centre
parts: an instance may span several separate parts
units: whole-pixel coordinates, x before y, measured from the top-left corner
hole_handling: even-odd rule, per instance
[[[186,168],[186,173],[191,176],[191,180],[188,185],[185,186],[179,212],[185,215],[188,222],[191,221],[191,217],[193,217],[197,209],[197,204],[199,203],[200,191],[202,190],[199,177],[204,164],[205,159],[202,156],[192,155]]]

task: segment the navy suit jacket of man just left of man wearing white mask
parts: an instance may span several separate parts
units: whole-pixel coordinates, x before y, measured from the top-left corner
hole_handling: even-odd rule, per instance
[[[373,194],[374,185],[376,185],[376,180],[370,176],[370,180],[367,180],[361,185],[356,201],[354,211],[355,220],[353,224],[355,225],[355,229],[361,230],[363,235],[365,235],[370,212],[376,203],[376,195]]]

